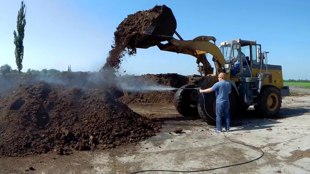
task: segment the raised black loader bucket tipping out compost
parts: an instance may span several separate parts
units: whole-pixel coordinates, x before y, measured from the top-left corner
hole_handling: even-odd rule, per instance
[[[170,8],[165,5],[161,7],[159,15],[144,31],[136,41],[136,48],[149,48],[156,46],[162,41],[173,37],[176,29],[176,20]],[[155,6],[153,8],[158,8]]]

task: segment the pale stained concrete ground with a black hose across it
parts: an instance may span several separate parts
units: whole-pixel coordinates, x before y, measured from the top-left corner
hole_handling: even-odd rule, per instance
[[[143,115],[165,121],[157,136],[137,146],[109,150],[74,152],[68,156],[42,154],[27,158],[0,158],[0,173],[98,173],[126,174],[138,170],[200,170],[245,162],[259,157],[259,151],[228,141],[223,133],[201,119],[180,117],[173,105],[134,104]],[[264,156],[254,162],[196,173],[310,173],[310,96],[283,99],[278,118],[263,119],[250,108],[242,118],[232,120],[227,137],[259,147]],[[182,133],[173,133],[182,128]],[[24,172],[32,166],[35,171]],[[173,173],[173,172],[144,172]],[[175,172],[174,172],[175,173]]]

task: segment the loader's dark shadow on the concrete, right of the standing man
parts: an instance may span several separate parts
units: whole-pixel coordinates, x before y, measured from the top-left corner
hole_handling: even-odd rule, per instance
[[[264,118],[262,115],[258,115],[254,110],[247,110],[241,116],[231,119],[231,127],[236,127],[237,129],[231,130],[256,130],[256,129],[267,129],[272,128],[274,125],[281,123],[281,120],[289,117],[296,117],[310,113],[308,108],[283,108],[281,109],[278,116],[273,118]],[[224,125],[223,125],[224,126]]]

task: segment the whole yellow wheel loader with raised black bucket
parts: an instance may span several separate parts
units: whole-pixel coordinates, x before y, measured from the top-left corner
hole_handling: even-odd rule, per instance
[[[188,54],[196,58],[201,77],[193,82],[193,85],[184,85],[175,93],[175,108],[181,115],[200,116],[208,124],[215,125],[212,119],[216,118],[215,91],[203,93],[203,97],[197,90],[188,88],[210,88],[218,81],[220,72],[226,73],[227,81],[232,85],[232,92],[229,94],[230,117],[241,115],[250,106],[254,106],[264,117],[279,113],[282,96],[289,95],[289,87],[283,85],[281,66],[268,64],[269,52],[262,52],[259,43],[236,39],[216,46],[216,38],[213,36],[183,40],[176,32],[176,26],[171,9],[162,5],[157,18],[136,43],[137,48],[157,46],[163,51]],[[174,34],[179,39],[174,38]],[[163,41],[168,43],[161,43]],[[211,54],[214,67],[211,67],[211,63],[206,59],[207,54]],[[206,112],[212,118],[207,116]]]

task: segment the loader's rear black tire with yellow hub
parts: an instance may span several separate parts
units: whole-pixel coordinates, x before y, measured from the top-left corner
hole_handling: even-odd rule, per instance
[[[281,104],[282,99],[279,89],[275,86],[268,85],[263,87],[260,92],[259,105],[255,105],[255,111],[258,111],[264,118],[272,118],[280,112]]]

